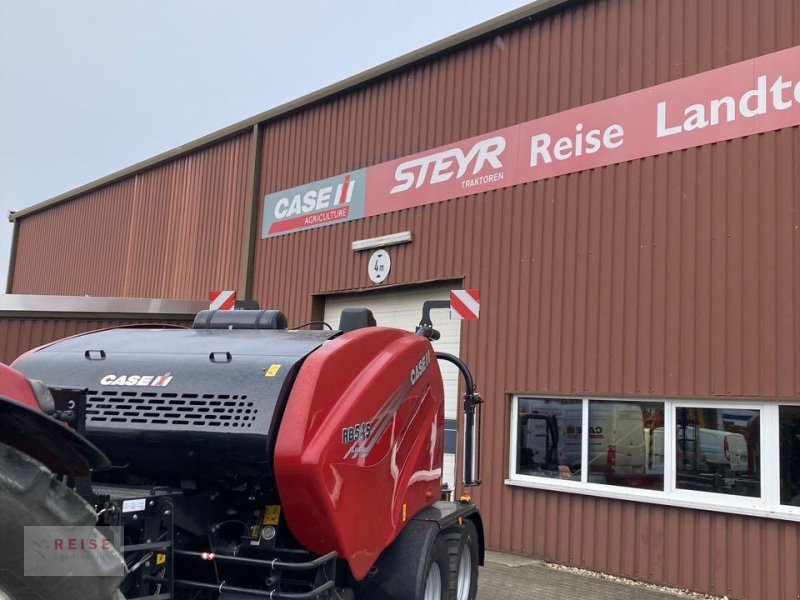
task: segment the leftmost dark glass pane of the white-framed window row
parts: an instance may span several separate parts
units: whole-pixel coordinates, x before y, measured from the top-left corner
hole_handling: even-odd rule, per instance
[[[581,400],[520,398],[517,473],[581,480]]]

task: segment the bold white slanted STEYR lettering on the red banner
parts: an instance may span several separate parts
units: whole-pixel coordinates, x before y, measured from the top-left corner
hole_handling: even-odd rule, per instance
[[[456,176],[456,179],[460,179],[467,172],[470,164],[474,164],[472,167],[473,175],[480,173],[486,163],[489,163],[494,169],[502,169],[503,163],[500,162],[500,155],[505,149],[506,139],[498,135],[476,142],[466,155],[461,148],[451,148],[400,163],[395,170],[394,177],[396,181],[401,183],[394,186],[389,193],[405,192],[411,189],[412,186],[419,188],[425,183],[426,179],[430,184],[447,181],[453,175]],[[454,163],[458,165],[455,173],[453,172]],[[430,178],[428,178],[428,167],[431,165],[433,165],[433,168],[430,172]],[[415,172],[415,169],[418,170]],[[414,185],[414,182],[416,182],[416,185]]]

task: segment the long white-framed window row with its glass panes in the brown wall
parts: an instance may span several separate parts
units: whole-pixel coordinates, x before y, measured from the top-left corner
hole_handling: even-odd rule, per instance
[[[508,485],[800,520],[800,404],[511,399]]]

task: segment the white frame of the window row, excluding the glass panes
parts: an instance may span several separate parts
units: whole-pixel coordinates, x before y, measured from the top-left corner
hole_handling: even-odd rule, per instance
[[[518,446],[518,416],[520,399],[542,400],[581,400],[581,480],[567,481],[551,479],[537,475],[524,475],[516,472]],[[591,483],[588,481],[589,461],[589,402],[657,402],[664,404],[664,489],[647,490],[634,487]],[[800,506],[793,507],[780,503],[780,440],[779,411],[780,406],[800,406],[800,401],[781,401],[778,399],[687,399],[687,398],[651,398],[651,397],[601,397],[551,394],[511,394],[510,402],[510,436],[508,452],[508,469],[505,484],[515,487],[542,489],[557,492],[598,496],[618,500],[629,500],[667,506],[680,506],[715,512],[773,517],[784,520],[800,521]],[[676,471],[676,424],[678,408],[735,408],[760,411],[759,441],[760,456],[760,497],[736,496],[696,490],[685,490],[677,487]]]

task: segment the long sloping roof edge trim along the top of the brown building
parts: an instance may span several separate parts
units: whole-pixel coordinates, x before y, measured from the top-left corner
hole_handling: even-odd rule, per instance
[[[26,217],[57,204],[61,204],[62,202],[66,202],[110,183],[120,181],[135,175],[136,173],[140,173],[162,163],[200,150],[206,146],[210,146],[214,143],[224,141],[225,139],[235,137],[236,135],[245,134],[252,129],[253,125],[265,123],[267,121],[286,116],[323,100],[333,98],[348,90],[364,85],[371,81],[375,81],[404,68],[410,67],[416,63],[433,58],[440,54],[444,54],[445,52],[454,50],[468,43],[477,41],[480,38],[511,27],[520,21],[530,19],[531,17],[540,13],[565,4],[574,3],[576,1],[577,0],[534,0],[529,4],[516,8],[507,13],[503,13],[502,15],[489,19],[488,21],[484,21],[454,33],[453,35],[428,44],[427,46],[423,46],[417,50],[412,50],[411,52],[403,54],[402,56],[389,60],[375,67],[371,67],[366,71],[362,71],[356,75],[342,79],[324,88],[301,96],[300,98],[290,100],[289,102],[261,112],[253,117],[204,135],[191,142],[187,142],[186,144],[182,144],[171,150],[157,154],[156,156],[135,163],[129,167],[125,167],[124,169],[110,173],[109,175],[100,177],[99,179],[76,187],[68,192],[53,196],[52,198],[27,206],[18,211],[10,211],[8,213],[8,220],[13,223],[22,217]]]

